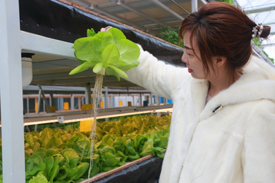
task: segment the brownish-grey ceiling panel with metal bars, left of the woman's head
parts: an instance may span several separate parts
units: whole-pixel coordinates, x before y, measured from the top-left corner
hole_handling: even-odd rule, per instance
[[[162,28],[179,28],[181,21],[192,12],[191,0],[67,1],[153,35]],[[199,7],[207,3],[197,2]]]

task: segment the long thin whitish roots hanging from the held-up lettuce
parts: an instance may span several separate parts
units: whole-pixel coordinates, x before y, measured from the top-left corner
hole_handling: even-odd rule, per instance
[[[100,98],[102,98],[102,84],[103,84],[103,76],[102,74],[96,74],[96,83],[94,85],[93,90],[93,115],[94,122],[91,127],[91,149],[90,149],[90,166],[89,166],[89,174],[88,174],[88,182],[90,178],[91,168],[94,165],[93,155],[94,155],[94,142],[96,141],[96,116],[98,114],[98,104],[100,104]]]

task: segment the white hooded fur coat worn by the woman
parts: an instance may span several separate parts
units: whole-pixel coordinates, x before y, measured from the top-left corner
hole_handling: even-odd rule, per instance
[[[275,182],[275,69],[252,56],[206,104],[208,82],[141,48],[129,80],[173,100],[160,183]]]

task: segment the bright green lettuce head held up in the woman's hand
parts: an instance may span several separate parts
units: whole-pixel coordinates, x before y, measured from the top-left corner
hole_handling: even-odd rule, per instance
[[[82,64],[74,68],[71,75],[93,68],[96,74],[113,75],[120,80],[119,75],[127,78],[124,71],[139,64],[140,48],[117,28],[97,34],[94,29],[87,30],[87,37],[77,39],[73,48]]]

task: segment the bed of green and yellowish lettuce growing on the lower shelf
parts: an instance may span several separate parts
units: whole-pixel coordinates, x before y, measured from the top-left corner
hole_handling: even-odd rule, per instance
[[[90,176],[146,155],[164,157],[170,116],[133,116],[96,127]],[[91,140],[78,125],[25,134],[26,182],[80,182],[88,178]]]

